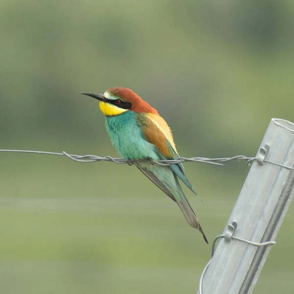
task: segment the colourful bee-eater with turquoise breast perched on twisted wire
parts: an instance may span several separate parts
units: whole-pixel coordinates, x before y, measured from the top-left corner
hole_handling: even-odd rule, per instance
[[[106,117],[106,130],[119,154],[126,160],[150,161],[177,159],[172,132],[166,121],[146,101],[127,88],[110,88],[104,94],[81,92],[98,99],[100,110]],[[208,243],[198,218],[180,186],[182,180],[195,194],[181,163],[170,166],[134,161],[158,188],[170,196],[181,209],[186,221],[199,230]]]

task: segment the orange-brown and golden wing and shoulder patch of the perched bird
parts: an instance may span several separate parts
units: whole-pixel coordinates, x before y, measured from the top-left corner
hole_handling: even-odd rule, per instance
[[[155,145],[164,156],[172,158],[173,156],[166,143],[168,140],[176,152],[170,127],[159,115],[147,113],[146,118],[147,124],[142,130],[147,137],[147,140]]]

